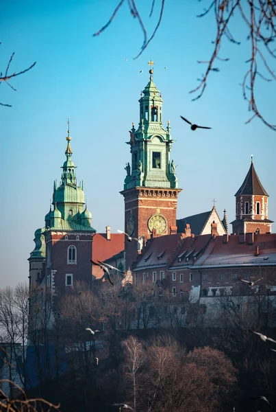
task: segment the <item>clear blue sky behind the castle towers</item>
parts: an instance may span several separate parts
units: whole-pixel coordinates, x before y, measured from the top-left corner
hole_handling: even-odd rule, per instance
[[[36,61],[31,71],[1,84],[1,274],[0,287],[27,280],[34,231],[43,227],[53,181],[60,181],[66,148],[67,117],[77,179],[84,179],[92,226],[105,231],[124,227],[125,163],[130,161],[131,122],[138,126],[140,91],[149,81],[147,62],[154,61],[153,81],[162,91],[164,120],[171,120],[177,165],[177,218],[212,209],[228,222],[235,218],[234,194],[246,176],[251,155],[270,195],[268,217],[276,220],[276,133],[260,120],[251,124],[240,83],[249,55],[247,30],[236,17],[233,32],[242,45],[223,41],[218,62],[200,100],[188,92],[203,73],[197,60],[208,60],[215,34],[214,14],[198,19],[210,1],[167,0],[160,30],[145,52],[138,21],[127,8],[92,37],[110,18],[118,0],[3,0],[1,71],[15,52],[11,71]],[[150,1],[136,1],[149,34],[158,19],[160,0],[149,19]],[[127,60],[127,61],[125,61]],[[167,69],[164,69],[167,67]],[[142,70],[142,73],[140,73]],[[268,121],[275,122],[275,83],[258,81],[256,96]],[[192,132],[179,117],[211,126]],[[275,229],[273,230],[275,231]]]

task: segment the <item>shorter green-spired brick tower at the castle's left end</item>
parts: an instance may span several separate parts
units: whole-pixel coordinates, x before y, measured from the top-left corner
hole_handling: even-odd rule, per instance
[[[35,232],[36,247],[29,258],[30,288],[40,284],[51,295],[73,286],[76,280],[91,280],[92,215],[84,208],[84,184],[77,183],[71,157],[68,122],[66,161],[60,185],[53,183],[53,209],[45,216],[45,227]]]

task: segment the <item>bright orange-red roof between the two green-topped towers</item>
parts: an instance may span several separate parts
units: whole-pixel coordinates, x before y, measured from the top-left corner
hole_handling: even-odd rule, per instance
[[[106,233],[96,233],[92,241],[92,260],[103,262],[125,249],[125,235],[123,233],[110,233],[107,240]],[[92,266],[92,275],[97,279],[102,277],[103,271],[99,266]]]

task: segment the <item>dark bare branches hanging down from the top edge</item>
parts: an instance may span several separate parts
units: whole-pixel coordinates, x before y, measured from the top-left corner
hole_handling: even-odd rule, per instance
[[[221,43],[223,38],[235,45],[240,45],[240,41],[237,41],[232,34],[230,27],[234,23],[234,19],[239,21],[239,16],[244,23],[244,27],[248,30],[247,41],[249,41],[249,55],[244,62],[247,68],[244,70],[242,79],[242,96],[248,103],[248,109],[253,113],[246,123],[251,122],[254,117],[258,117],[268,128],[276,130],[276,125],[271,124],[258,108],[255,99],[255,87],[257,79],[265,82],[271,82],[276,80],[275,70],[272,62],[276,58],[276,49],[273,49],[273,43],[276,38],[276,3],[275,0],[206,0],[208,7],[199,14],[197,17],[203,17],[214,11],[214,24],[216,25],[216,36],[212,43],[214,44],[213,52],[208,60],[198,60],[200,64],[205,64],[206,69],[201,78],[199,78],[199,84],[190,93],[198,92],[197,100],[203,95],[210,73],[220,71],[218,67],[219,62],[227,62],[229,58],[221,58]],[[165,0],[161,1],[158,23],[155,26],[150,38],[147,37],[147,30],[136,6],[136,0],[121,0],[118,2],[116,9],[108,23],[106,23],[99,32],[94,36],[99,36],[109,25],[116,16],[118,10],[122,7],[123,3],[127,3],[129,12],[134,19],[138,20],[142,29],[144,41],[140,53],[135,58],[138,58],[142,52],[146,49],[147,45],[152,41],[155,36],[158,27],[162,21],[164,14]],[[188,3],[187,3],[188,4]],[[149,16],[153,14],[155,6],[155,0],[151,1],[151,12]],[[239,14],[239,16],[238,16]],[[235,24],[235,23],[234,23]],[[236,24],[237,25],[237,24]]]

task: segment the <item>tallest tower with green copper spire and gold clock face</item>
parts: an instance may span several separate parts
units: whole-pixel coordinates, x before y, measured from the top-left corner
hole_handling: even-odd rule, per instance
[[[162,95],[153,83],[153,62],[150,61],[150,78],[141,92],[140,122],[132,124],[127,141],[131,163],[125,170],[125,232],[137,240],[125,237],[126,267],[137,258],[142,242],[151,237],[176,233],[178,188],[175,163],[171,160],[170,122],[163,127]]]

